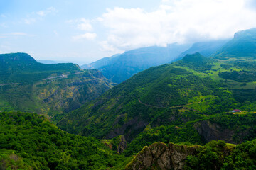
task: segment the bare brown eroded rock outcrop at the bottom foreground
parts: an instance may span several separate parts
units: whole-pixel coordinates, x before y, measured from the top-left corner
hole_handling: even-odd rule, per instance
[[[127,164],[126,170],[130,169],[163,169],[179,170],[186,164],[188,155],[197,154],[199,146],[175,145],[156,142],[149,147],[144,147],[137,156]]]

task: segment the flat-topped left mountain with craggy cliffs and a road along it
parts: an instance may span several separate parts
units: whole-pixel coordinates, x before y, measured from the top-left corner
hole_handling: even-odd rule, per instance
[[[97,70],[41,64],[26,53],[0,55],[0,111],[67,113],[110,89]]]

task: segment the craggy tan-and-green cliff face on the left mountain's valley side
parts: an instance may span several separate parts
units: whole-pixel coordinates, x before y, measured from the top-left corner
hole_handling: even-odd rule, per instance
[[[110,89],[99,71],[53,77],[33,84],[33,98],[41,111],[50,115],[68,113]]]

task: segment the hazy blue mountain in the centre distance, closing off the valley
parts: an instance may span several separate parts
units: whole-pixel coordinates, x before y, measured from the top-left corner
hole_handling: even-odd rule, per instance
[[[119,84],[144,69],[170,62],[188,47],[189,45],[176,43],[167,45],[167,47],[144,47],[105,57],[97,62],[83,65],[81,68],[99,69],[107,79]]]

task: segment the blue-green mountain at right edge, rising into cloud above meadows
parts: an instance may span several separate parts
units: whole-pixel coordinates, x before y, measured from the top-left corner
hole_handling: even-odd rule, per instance
[[[225,44],[213,57],[256,57],[256,28],[235,33],[234,38]]]

